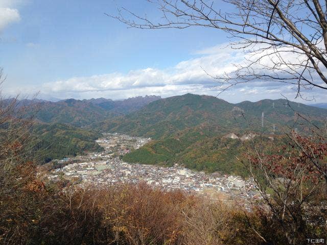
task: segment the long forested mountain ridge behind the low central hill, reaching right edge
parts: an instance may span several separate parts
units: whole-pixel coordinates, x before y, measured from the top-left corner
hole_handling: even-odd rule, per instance
[[[155,101],[136,112],[92,124],[91,128],[154,139],[168,137],[204,122],[225,128],[225,133],[244,132],[245,129],[273,133],[273,128],[280,132],[285,126],[306,130],[297,113],[318,126],[323,125],[327,116],[327,110],[287,100],[230,104],[213,96],[185,94]]]

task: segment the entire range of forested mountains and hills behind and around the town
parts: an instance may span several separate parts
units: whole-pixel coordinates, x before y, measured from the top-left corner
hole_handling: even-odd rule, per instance
[[[100,98],[30,104],[33,105],[30,113],[35,113],[37,123],[42,125],[36,127],[42,142],[54,141],[55,145],[60,145],[59,142],[65,140],[67,148],[71,149],[61,151],[62,146],[50,147],[49,154],[51,151],[56,154],[47,160],[101,150],[91,143],[94,138],[101,135],[100,132],[119,132],[153,139],[125,155],[123,159],[127,162],[179,163],[197,170],[239,175],[245,172],[233,156],[242,152],[242,139],[248,138],[249,132],[269,141],[269,137],[278,138],[291,128],[310,133],[308,121],[322,127],[327,117],[326,109],[282,99],[231,104],[214,96],[195,94],[166,99],[146,96],[124,101]],[[62,137],[64,125],[66,137]],[[47,127],[52,133],[46,133]],[[56,134],[56,131],[61,133]],[[75,146],[76,152],[72,151]]]

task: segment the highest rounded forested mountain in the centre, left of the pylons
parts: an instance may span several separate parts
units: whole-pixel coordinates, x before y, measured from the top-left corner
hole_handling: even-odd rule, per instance
[[[213,96],[185,94],[152,102],[141,110],[91,127],[158,139],[203,122],[228,125],[231,121],[224,115],[232,107]]]

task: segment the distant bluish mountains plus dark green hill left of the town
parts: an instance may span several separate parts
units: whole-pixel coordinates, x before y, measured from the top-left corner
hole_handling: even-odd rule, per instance
[[[95,142],[102,134],[85,126],[135,111],[159,99],[159,96],[138,96],[123,101],[104,98],[58,102],[21,100],[17,103],[17,114],[34,118],[30,142],[32,157],[39,163],[46,163],[87,151],[102,151],[103,148]],[[7,100],[7,104],[11,101]]]

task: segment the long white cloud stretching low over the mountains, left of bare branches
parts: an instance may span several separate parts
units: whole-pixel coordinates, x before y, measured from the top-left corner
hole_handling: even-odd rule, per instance
[[[131,70],[127,74],[112,73],[91,77],[74,77],[46,83],[42,89],[53,93],[86,93],[131,89],[149,90],[151,88],[152,93],[157,93],[159,89],[164,94],[174,89],[175,91],[187,92],[185,90],[187,87],[190,88],[190,91],[193,91],[193,87],[198,89],[200,86],[204,90],[212,90],[213,87],[216,87],[217,91],[219,84],[209,77],[206,72],[217,75],[231,71],[235,69],[231,63],[237,62],[239,59],[240,55],[238,53],[230,52],[230,50],[220,50],[219,53],[181,61],[167,69],[148,67]]]

